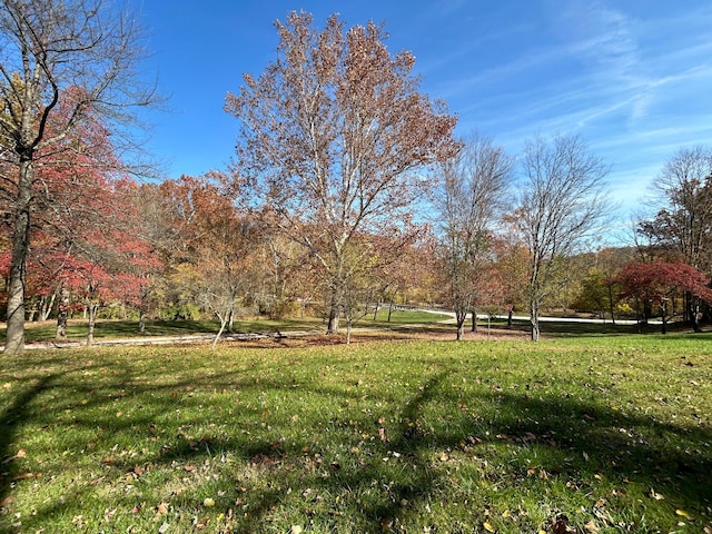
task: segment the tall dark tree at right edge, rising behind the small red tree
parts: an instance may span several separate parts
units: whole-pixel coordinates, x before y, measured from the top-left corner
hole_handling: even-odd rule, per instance
[[[668,256],[712,270],[712,150],[682,149],[664,166],[653,182],[662,208],[652,219],[637,224],[637,234]],[[685,319],[695,327],[691,295],[685,297]]]

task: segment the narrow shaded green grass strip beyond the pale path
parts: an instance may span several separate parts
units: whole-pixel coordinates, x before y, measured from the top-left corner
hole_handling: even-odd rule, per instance
[[[373,314],[363,317],[355,327],[388,327],[398,325],[419,324],[427,325],[443,320],[445,316],[424,312],[394,312],[390,322],[387,320],[387,309],[378,312],[377,320],[373,320]],[[268,334],[289,330],[323,330],[325,322],[320,318],[286,318],[286,319],[240,319],[236,320],[234,332],[239,334]],[[137,320],[99,320],[95,327],[96,339],[116,339],[125,337],[151,337],[151,336],[187,336],[192,334],[217,334],[220,324],[217,320],[149,320],[146,332],[138,333]],[[28,323],[26,325],[26,339],[29,343],[55,339],[57,326],[52,322]],[[86,320],[71,320],[67,328],[68,339],[85,339],[88,333]],[[0,343],[4,343],[6,329],[0,328]]]

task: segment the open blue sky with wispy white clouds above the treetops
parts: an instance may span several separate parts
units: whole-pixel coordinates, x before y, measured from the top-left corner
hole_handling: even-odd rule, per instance
[[[518,156],[535,135],[577,134],[611,165],[621,218],[681,148],[712,146],[709,0],[132,0],[150,33],[170,112],[147,148],[167,178],[224,169],[236,119],[222,111],[241,75],[276,57],[274,21],[305,10],[323,26],[385,22],[411,50],[422,89]],[[151,75],[149,75],[151,76]]]

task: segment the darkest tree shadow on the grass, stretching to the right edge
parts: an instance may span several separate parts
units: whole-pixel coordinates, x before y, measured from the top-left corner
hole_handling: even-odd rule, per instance
[[[709,426],[675,426],[555,396],[498,393],[483,399],[500,406],[490,424],[490,436],[495,437],[487,441],[562,453],[542,465],[554,475],[575,479],[604,475],[654,487],[683,508],[712,505]]]

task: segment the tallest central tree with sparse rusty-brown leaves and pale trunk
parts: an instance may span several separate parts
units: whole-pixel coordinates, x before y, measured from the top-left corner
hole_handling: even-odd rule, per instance
[[[236,175],[323,265],[335,333],[352,239],[402,233],[421,171],[457,147],[456,119],[418,92],[415,58],[392,56],[382,27],[346,30],[332,16],[317,31],[304,12],[276,27],[276,61],[227,95],[240,121]]]

